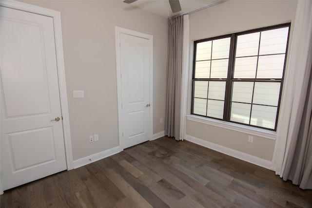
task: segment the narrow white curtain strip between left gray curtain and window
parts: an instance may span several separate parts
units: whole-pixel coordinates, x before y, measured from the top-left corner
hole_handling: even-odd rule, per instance
[[[190,17],[183,16],[183,51],[182,51],[182,77],[181,77],[181,111],[180,111],[180,138],[186,135],[186,109],[187,109],[187,83],[189,74],[190,56]]]

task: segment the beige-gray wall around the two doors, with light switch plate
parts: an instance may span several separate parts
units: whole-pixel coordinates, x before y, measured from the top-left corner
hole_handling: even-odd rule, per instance
[[[73,158],[118,146],[115,26],[154,36],[154,133],[164,130],[167,19],[121,0],[24,0],[61,12]],[[84,98],[73,98],[84,90]],[[99,134],[98,142],[89,136]]]

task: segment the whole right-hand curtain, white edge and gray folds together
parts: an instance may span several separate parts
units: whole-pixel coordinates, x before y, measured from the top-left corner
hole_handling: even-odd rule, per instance
[[[298,0],[272,169],[312,189],[312,1]]]

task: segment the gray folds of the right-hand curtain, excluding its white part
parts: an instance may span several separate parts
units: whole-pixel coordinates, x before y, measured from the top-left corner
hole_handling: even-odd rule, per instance
[[[312,41],[311,41],[312,43]],[[289,153],[286,156],[283,180],[292,180],[301,189],[312,189],[312,44],[310,44],[310,60],[303,85],[306,93],[301,95],[302,113],[296,117],[296,127]]]

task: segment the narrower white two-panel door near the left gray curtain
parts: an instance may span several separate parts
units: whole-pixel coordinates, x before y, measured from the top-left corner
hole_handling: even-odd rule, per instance
[[[120,34],[123,148],[150,139],[150,40]]]

